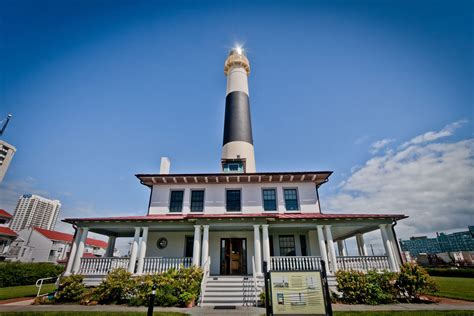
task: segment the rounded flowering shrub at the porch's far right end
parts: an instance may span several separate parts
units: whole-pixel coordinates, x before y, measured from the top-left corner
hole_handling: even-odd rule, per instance
[[[400,268],[396,286],[408,301],[418,300],[420,295],[436,292],[437,285],[425,269],[414,263],[405,263]]]

